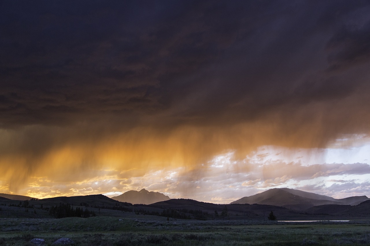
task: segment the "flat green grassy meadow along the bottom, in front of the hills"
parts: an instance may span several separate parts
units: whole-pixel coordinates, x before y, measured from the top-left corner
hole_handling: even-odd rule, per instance
[[[51,245],[67,237],[75,245],[367,245],[370,224],[265,221],[163,221],[95,218],[1,219],[0,245]]]

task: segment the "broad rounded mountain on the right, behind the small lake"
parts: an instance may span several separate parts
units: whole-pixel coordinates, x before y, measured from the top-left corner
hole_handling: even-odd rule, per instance
[[[240,198],[239,200],[231,202],[231,204],[266,204],[303,211],[313,206],[327,204],[356,205],[366,200],[369,200],[366,196],[335,199],[296,189],[274,188],[250,197]]]

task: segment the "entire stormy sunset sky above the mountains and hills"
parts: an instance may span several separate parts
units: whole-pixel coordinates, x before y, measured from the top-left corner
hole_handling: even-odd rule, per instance
[[[0,1],[0,193],[370,197],[370,2]]]

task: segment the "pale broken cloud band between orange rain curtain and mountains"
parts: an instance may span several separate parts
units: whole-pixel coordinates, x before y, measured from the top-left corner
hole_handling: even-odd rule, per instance
[[[32,188],[21,191],[32,197],[97,193],[112,197],[145,188],[163,192],[171,198],[229,203],[269,188],[290,187],[344,198],[368,194],[369,172],[370,165],[364,163],[303,165],[301,161],[287,163],[256,153],[236,161],[234,153],[229,152],[191,171],[184,167],[148,168],[145,171],[140,168],[89,170],[79,181],[76,177],[74,180],[33,177],[30,179]]]

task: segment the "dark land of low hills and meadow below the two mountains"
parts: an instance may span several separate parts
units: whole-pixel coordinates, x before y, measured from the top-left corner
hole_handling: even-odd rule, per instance
[[[103,195],[30,201],[3,198],[0,245],[31,245],[34,238],[44,239],[44,245],[70,238],[81,246],[370,245],[370,203],[333,208],[337,206],[317,206],[308,213],[272,205],[217,205],[189,199],[132,205]],[[270,221],[271,211],[278,220],[322,221]]]

